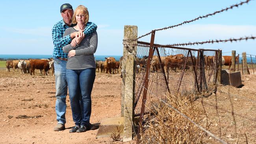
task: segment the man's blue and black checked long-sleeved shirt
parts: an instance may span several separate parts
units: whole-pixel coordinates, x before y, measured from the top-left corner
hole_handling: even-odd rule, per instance
[[[71,25],[71,27],[73,26],[75,25]],[[52,56],[55,58],[58,58],[58,57],[67,58],[68,54],[65,54],[62,50],[63,46],[69,44],[72,41],[70,35],[62,37],[64,31],[67,28],[69,28],[69,26],[67,26],[63,20],[57,22],[52,28],[52,40],[54,44],[54,50],[53,50]],[[97,26],[95,23],[88,22],[86,24],[84,33],[85,35],[91,35],[91,33],[96,31],[96,29],[97,29]]]

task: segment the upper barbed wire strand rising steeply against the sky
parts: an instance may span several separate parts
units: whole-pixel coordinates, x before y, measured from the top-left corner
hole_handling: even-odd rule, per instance
[[[225,9],[221,9],[220,11],[215,11],[215,12],[210,13],[210,14],[208,14],[208,15],[199,16],[199,17],[194,18],[194,19],[192,19],[192,20],[187,20],[187,21],[184,21],[184,22],[182,22],[182,23],[180,23],[180,24],[176,24],[176,25],[173,25],[173,26],[165,27],[165,28],[156,29],[156,30],[154,30],[154,31],[166,30],[166,29],[169,29],[169,28],[174,28],[174,27],[177,27],[177,26],[181,26],[181,25],[183,25],[183,24],[188,24],[188,23],[190,23],[190,22],[194,22],[194,21],[199,20],[199,19],[202,19],[202,18],[208,18],[209,16],[216,15],[217,13],[222,13],[223,11],[228,11],[229,9],[233,9],[233,7],[242,6],[243,4],[248,3],[248,2],[250,2],[250,1],[251,1],[251,0],[246,0],[246,1],[244,1],[244,2],[240,2],[239,4],[234,4],[234,5],[230,6],[230,7],[226,7]],[[152,33],[152,31],[149,32],[149,33],[146,33],[145,35],[141,35],[141,36],[138,37],[137,39],[140,39],[140,38],[142,38],[142,37],[145,37],[145,36],[149,35],[150,33]],[[136,39],[136,40],[137,40],[137,39]]]

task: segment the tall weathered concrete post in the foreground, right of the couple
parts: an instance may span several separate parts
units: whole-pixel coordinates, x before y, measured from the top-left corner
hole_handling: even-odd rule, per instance
[[[124,117],[123,142],[132,140],[134,122],[135,64],[137,54],[137,26],[124,26],[122,59],[121,116]]]

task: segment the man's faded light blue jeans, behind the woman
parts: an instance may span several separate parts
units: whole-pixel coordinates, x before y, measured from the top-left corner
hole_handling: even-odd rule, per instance
[[[56,105],[55,110],[57,114],[57,121],[60,124],[65,124],[66,113],[66,96],[67,96],[67,77],[66,77],[66,64],[67,61],[54,59],[54,74],[55,74],[55,87],[56,87]]]

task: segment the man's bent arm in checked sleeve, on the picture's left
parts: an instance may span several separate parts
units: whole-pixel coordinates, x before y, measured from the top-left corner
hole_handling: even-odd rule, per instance
[[[57,26],[54,26],[52,28],[52,40],[54,46],[61,48],[71,42],[71,37],[70,35],[67,35],[65,37],[62,37],[61,35],[61,30]]]

